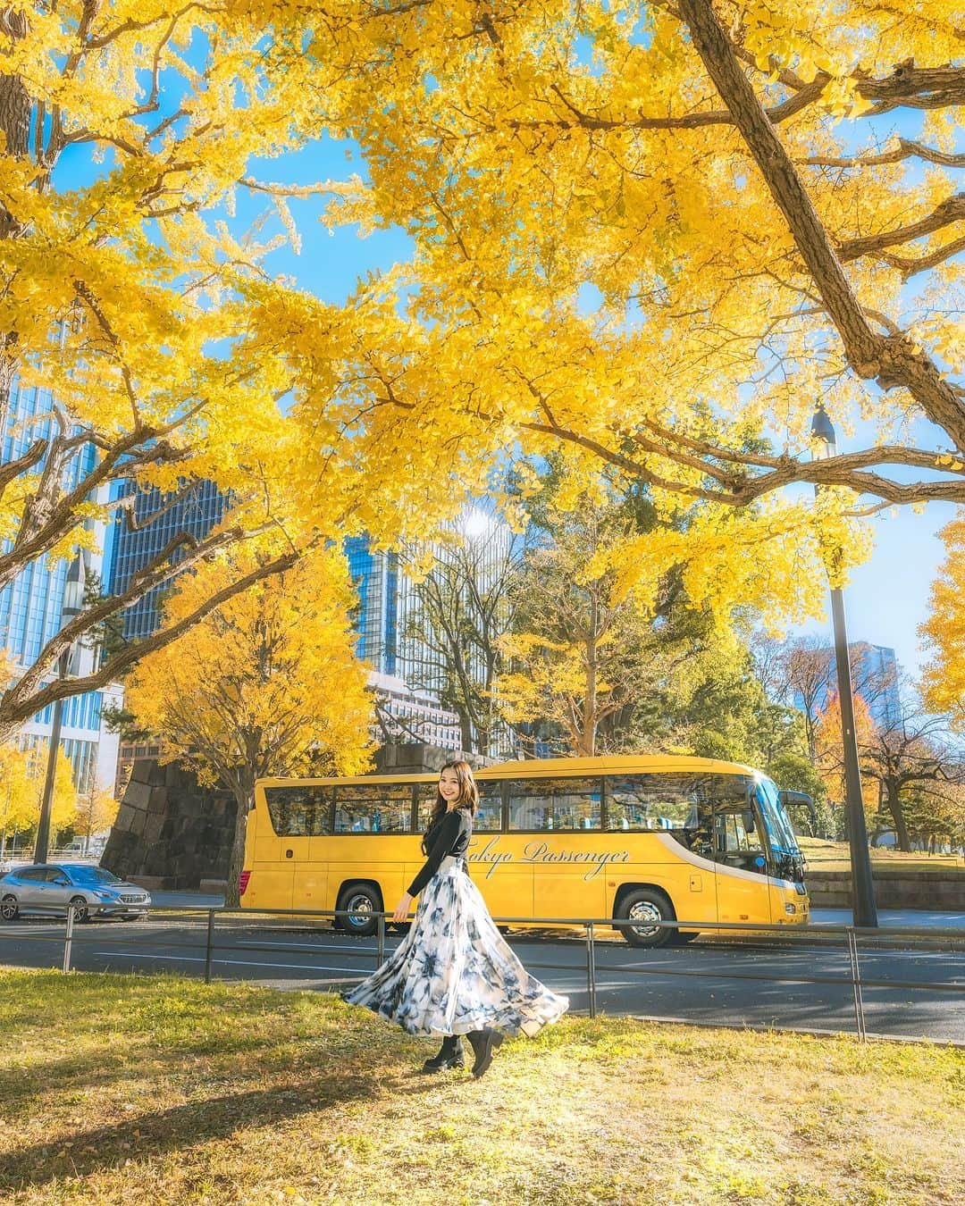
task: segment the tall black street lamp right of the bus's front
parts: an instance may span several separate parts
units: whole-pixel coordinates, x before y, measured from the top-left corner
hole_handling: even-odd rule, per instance
[[[811,423],[812,439],[819,441],[818,459],[836,455],[835,428],[819,403]],[[818,493],[818,486],[814,486]],[[854,924],[876,929],[878,911],[875,904],[875,884],[871,878],[871,855],[867,848],[865,801],[861,795],[861,767],[858,761],[858,736],[854,728],[854,695],[852,668],[848,658],[848,630],[844,624],[844,592],[831,587],[831,622],[835,631],[835,667],[837,696],[841,703],[841,739],[844,749],[844,815],[848,821],[848,845],[852,859],[852,911]]]

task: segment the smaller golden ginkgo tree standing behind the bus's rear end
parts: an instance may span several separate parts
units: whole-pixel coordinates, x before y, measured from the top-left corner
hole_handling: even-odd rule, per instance
[[[185,578],[165,616],[250,570],[235,555]],[[252,560],[256,554],[248,554]],[[247,814],[262,775],[357,774],[368,767],[372,696],[355,656],[352,591],[335,549],[303,557],[222,603],[174,644],[154,650],[128,684],[125,710],[162,761],[177,759],[234,796],[228,903],[238,904]]]

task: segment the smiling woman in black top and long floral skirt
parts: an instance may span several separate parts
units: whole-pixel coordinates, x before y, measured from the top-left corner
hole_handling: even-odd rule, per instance
[[[478,807],[469,763],[446,762],[422,838],[426,865],[392,914],[404,921],[419,896],[415,921],[382,966],[343,994],[410,1035],[443,1035],[423,1072],[464,1067],[466,1035],[475,1056],[473,1076],[480,1077],[505,1035],[532,1036],[569,1007],[516,959],[469,878],[466,853]]]

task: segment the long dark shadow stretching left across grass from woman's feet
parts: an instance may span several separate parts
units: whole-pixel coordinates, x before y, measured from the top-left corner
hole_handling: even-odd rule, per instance
[[[63,1142],[21,1148],[0,1157],[0,1194],[36,1188],[54,1178],[86,1177],[119,1167],[130,1159],[180,1152],[228,1138],[246,1126],[267,1126],[349,1101],[372,1100],[385,1083],[385,1071],[382,1066],[378,1072],[323,1073],[299,1083],[230,1093],[157,1113],[130,1116],[109,1126],[77,1131],[69,1149]]]

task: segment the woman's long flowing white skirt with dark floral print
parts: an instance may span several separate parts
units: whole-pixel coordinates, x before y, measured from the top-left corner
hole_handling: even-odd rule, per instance
[[[419,897],[409,933],[368,979],[343,994],[410,1035],[492,1026],[534,1035],[569,1008],[532,977],[490,917],[461,859],[445,859]]]

